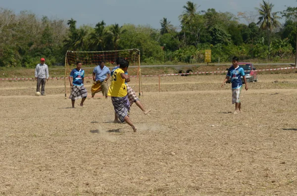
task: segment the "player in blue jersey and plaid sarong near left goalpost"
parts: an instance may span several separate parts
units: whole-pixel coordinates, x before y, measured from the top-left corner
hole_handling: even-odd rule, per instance
[[[82,99],[80,106],[84,106],[84,101],[88,96],[87,89],[84,86],[85,81],[85,71],[81,69],[82,62],[76,62],[76,68],[70,73],[69,82],[71,86],[71,94],[69,99],[71,99],[72,108],[74,108],[74,103],[76,99]],[[71,82],[72,79],[72,82]]]

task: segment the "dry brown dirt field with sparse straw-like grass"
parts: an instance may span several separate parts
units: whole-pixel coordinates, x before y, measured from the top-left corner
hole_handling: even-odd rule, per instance
[[[239,115],[223,79],[143,78],[137,133],[110,98],[71,109],[63,80],[0,81],[0,196],[297,195],[297,74],[260,75]]]

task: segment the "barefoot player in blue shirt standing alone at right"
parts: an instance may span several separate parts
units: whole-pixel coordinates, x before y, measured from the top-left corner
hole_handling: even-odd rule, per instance
[[[239,67],[238,65],[238,57],[233,57],[232,64],[228,69],[228,73],[226,75],[226,78],[224,79],[223,83],[221,84],[221,87],[223,88],[224,84],[228,79],[231,77],[231,83],[232,83],[232,104],[235,103],[235,111],[234,114],[237,114],[239,112],[242,112],[241,102],[240,102],[240,93],[243,88],[243,82],[241,79],[241,76],[244,78],[245,84],[246,84],[246,90],[248,89],[247,86],[247,79],[245,77],[245,71],[243,68]]]

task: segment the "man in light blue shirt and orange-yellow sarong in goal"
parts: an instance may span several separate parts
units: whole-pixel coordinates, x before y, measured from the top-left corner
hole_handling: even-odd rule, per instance
[[[94,98],[95,94],[102,91],[102,95],[107,98],[107,80],[110,77],[110,71],[105,66],[104,61],[99,62],[99,65],[94,68],[93,71],[93,80],[94,83],[91,88],[92,98]]]

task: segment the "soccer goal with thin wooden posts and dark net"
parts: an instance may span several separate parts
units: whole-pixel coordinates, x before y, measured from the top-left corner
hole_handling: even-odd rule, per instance
[[[142,92],[142,79],[140,69],[140,50],[139,49],[126,49],[126,50],[110,50],[110,51],[67,51],[65,55],[65,98],[67,98],[67,88],[69,85],[68,77],[72,69],[76,68],[76,62],[81,61],[84,69],[92,69],[99,64],[99,61],[104,61],[105,66],[110,70],[116,66],[116,59],[118,57],[124,58],[129,61],[129,67],[137,67],[137,81],[139,96]],[[92,66],[93,67],[90,67]],[[88,77],[88,76],[85,76]],[[91,77],[91,76],[90,76]],[[68,82],[67,82],[67,81]],[[136,89],[135,89],[136,90]],[[68,92],[70,89],[68,90]],[[69,92],[70,93],[70,92]]]

